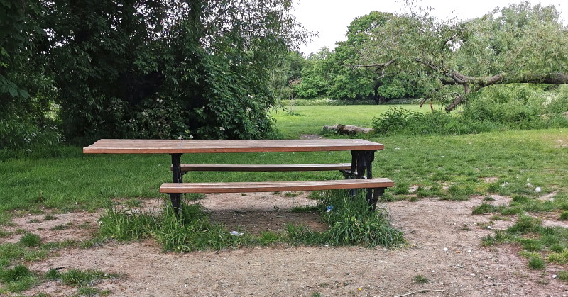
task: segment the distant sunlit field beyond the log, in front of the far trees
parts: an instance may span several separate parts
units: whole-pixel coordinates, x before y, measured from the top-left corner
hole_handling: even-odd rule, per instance
[[[294,139],[301,134],[318,134],[323,125],[358,125],[371,128],[373,117],[385,112],[389,105],[349,106],[285,106],[273,110],[271,115],[284,138]],[[411,111],[430,111],[430,106],[397,105]],[[435,106],[440,109],[442,106]]]

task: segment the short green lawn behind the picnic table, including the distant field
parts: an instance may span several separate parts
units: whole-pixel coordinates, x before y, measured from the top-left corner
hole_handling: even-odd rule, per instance
[[[417,106],[408,106],[418,109]],[[368,126],[387,106],[295,106],[294,114],[275,113],[278,128],[289,138],[318,133],[324,124]],[[429,108],[423,108],[427,111]],[[373,163],[375,176],[398,186],[454,186],[448,196],[530,194],[530,179],[543,193],[568,191],[568,131],[523,130],[506,133],[449,136],[381,136],[385,145]],[[0,211],[41,207],[94,209],[111,198],[164,197],[160,184],[170,181],[169,155],[83,155],[68,147],[65,157],[9,159],[0,163]],[[349,162],[349,152],[292,152],[264,154],[186,154],[182,162],[225,164],[307,164]],[[484,177],[497,177],[486,184]],[[337,172],[202,172],[185,181],[285,181],[341,178]],[[398,190],[403,193],[403,190]],[[396,191],[395,191],[396,192]]]

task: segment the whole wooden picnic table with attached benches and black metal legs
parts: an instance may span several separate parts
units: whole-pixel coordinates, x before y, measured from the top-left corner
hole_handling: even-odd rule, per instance
[[[160,186],[170,195],[175,211],[183,193],[241,193],[262,191],[314,191],[327,189],[368,189],[366,199],[374,207],[393,181],[374,178],[371,165],[376,150],[383,145],[361,139],[317,140],[129,140],[102,139],[83,148],[85,154],[169,154],[173,182]],[[335,164],[182,164],[182,154],[192,153],[266,153],[266,152],[349,151],[351,162]],[[255,155],[252,154],[252,157]],[[346,179],[334,181],[264,181],[239,183],[184,183],[190,171],[320,171],[340,170]],[[373,192],[374,189],[374,192]]]

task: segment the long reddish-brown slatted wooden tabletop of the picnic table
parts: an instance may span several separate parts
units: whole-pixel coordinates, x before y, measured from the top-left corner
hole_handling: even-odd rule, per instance
[[[196,152],[317,152],[383,150],[383,145],[362,139],[314,140],[134,140],[102,139],[85,154],[182,154]]]

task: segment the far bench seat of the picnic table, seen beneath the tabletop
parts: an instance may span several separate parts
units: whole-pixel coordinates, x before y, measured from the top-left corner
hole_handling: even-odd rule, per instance
[[[300,172],[349,170],[351,163],[334,164],[181,164],[182,172]],[[171,169],[171,167],[170,167]]]

